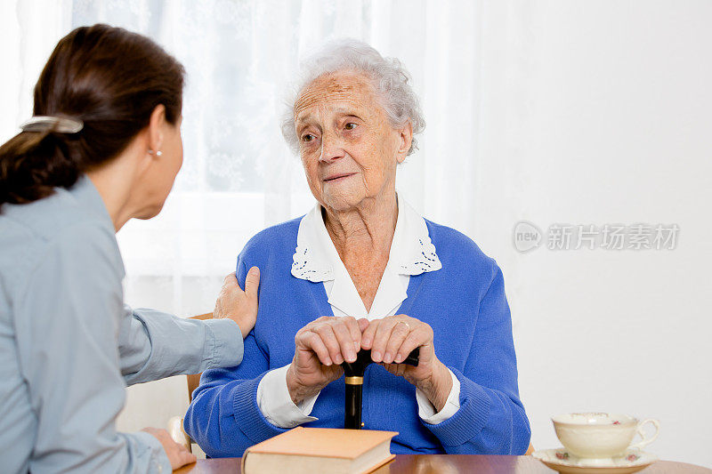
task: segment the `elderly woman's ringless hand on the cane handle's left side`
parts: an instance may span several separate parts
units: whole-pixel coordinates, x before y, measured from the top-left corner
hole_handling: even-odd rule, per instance
[[[296,333],[295,357],[287,369],[287,389],[295,405],[341,377],[344,369],[339,364],[356,360],[367,326],[367,319],[325,316]]]

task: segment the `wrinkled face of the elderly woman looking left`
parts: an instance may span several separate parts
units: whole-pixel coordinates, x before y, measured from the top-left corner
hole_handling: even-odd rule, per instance
[[[348,211],[395,192],[396,165],[411,134],[392,128],[368,77],[338,71],[318,77],[295,102],[295,125],[312,194]]]

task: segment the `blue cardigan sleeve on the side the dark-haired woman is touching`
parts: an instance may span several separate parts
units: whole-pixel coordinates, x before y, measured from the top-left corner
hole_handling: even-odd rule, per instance
[[[244,254],[240,254],[236,276],[244,288]],[[268,422],[257,406],[257,386],[270,370],[269,355],[259,347],[254,330],[244,344],[240,366],[203,373],[185,414],[186,433],[210,457],[241,456],[247,447],[287,431]]]

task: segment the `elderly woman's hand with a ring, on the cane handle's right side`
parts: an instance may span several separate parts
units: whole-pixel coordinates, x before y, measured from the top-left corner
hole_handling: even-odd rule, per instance
[[[400,364],[417,347],[418,365]],[[438,412],[445,406],[452,377],[448,367],[435,356],[430,325],[406,315],[375,319],[361,335],[361,348],[371,349],[371,360],[422,390]]]

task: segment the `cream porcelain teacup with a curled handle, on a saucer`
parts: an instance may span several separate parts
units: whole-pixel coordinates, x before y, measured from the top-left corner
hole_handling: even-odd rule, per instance
[[[657,420],[638,422],[627,414],[558,414],[551,421],[562,445],[579,458],[611,459],[622,456],[628,449],[642,449],[658,438],[660,429]],[[655,426],[651,437],[646,437],[643,431],[646,423]],[[632,445],[636,432],[643,440]]]

